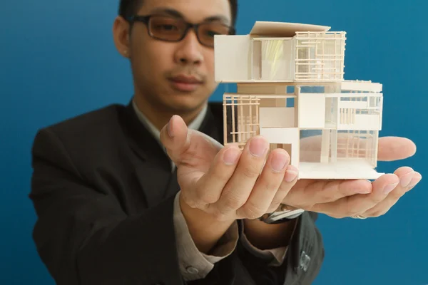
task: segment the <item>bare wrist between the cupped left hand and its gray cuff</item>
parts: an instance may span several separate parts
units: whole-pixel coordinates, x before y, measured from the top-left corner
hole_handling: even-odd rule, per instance
[[[190,237],[200,252],[208,254],[235,220],[218,221],[213,215],[186,204],[180,194],[180,209],[188,226]]]

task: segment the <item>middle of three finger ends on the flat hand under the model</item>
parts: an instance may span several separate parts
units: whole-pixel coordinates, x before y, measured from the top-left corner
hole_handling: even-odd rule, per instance
[[[366,212],[379,202],[382,202],[397,187],[399,178],[394,174],[386,174],[372,182],[370,194],[358,194],[343,197],[335,202],[315,204],[311,210],[322,212],[331,217],[351,217]]]

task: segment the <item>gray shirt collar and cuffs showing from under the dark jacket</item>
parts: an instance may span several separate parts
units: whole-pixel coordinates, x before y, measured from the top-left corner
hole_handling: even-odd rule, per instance
[[[133,108],[136,110],[138,118],[141,123],[151,132],[151,134],[158,140],[159,144],[163,147],[160,140],[160,130],[158,130],[140,110],[138,110],[136,104],[133,102]],[[199,113],[198,117],[195,118],[189,125],[188,128],[198,130],[200,125],[205,118],[205,114],[208,110],[208,105],[205,105],[203,110]],[[165,147],[163,147],[165,151]],[[165,151],[166,152],[166,151]],[[172,163],[171,170],[175,169],[175,165]],[[227,232],[221,237],[215,248],[211,251],[211,254],[204,254],[199,252],[195,246],[192,237],[190,236],[187,224],[180,210],[180,204],[178,202],[180,192],[175,195],[174,201],[174,227],[175,236],[177,240],[177,251],[178,260],[180,263],[180,271],[186,281],[195,279],[203,279],[213,269],[214,264],[225,257],[228,257],[235,250],[236,244],[240,239],[244,247],[250,252],[255,254],[257,257],[265,259],[273,259],[270,263],[271,266],[280,266],[285,259],[287,253],[287,247],[280,247],[277,249],[261,250],[253,246],[248,239],[245,237],[243,232],[238,232],[238,222],[234,222]],[[243,228],[243,227],[242,227]]]

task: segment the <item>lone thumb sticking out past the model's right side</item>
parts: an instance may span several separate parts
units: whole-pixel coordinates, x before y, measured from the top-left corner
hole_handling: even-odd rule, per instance
[[[383,161],[404,160],[416,153],[416,145],[408,138],[379,138],[377,159]]]

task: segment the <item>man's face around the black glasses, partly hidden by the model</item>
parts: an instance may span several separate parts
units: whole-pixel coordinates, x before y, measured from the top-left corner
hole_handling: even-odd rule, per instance
[[[170,11],[193,24],[213,17],[220,19],[214,20],[216,23],[231,24],[228,0],[144,0],[138,15],[173,16]],[[173,26],[158,28],[168,32]],[[166,42],[152,38],[148,26],[136,22],[130,38],[130,55],[136,95],[159,110],[197,110],[217,88],[213,48],[203,46],[193,29],[182,41]]]

